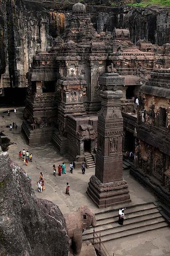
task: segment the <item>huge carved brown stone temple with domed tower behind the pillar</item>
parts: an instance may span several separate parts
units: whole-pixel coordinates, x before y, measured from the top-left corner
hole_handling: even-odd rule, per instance
[[[77,166],[81,161],[85,161],[87,167],[95,166],[100,151],[99,141],[97,145],[100,135],[97,129],[98,114],[100,118],[103,115],[99,81],[105,73],[116,71],[119,77],[124,78],[120,99],[124,120],[122,152],[135,151],[136,166],[154,176],[160,186],[162,184],[169,190],[168,151],[155,149],[157,153],[154,154],[154,147],[158,144],[154,142],[150,145],[150,140],[146,142],[146,132],[145,136],[142,135],[148,130],[150,136],[153,126],[156,126],[157,132],[163,129],[164,132],[160,133],[165,133],[168,138],[168,95],[155,93],[154,88],[163,87],[168,92],[165,78],[169,68],[169,43],[158,46],[143,38],[134,45],[130,41],[128,28],[114,28],[112,33],[98,34],[85,5],[73,5],[63,34],[56,37],[46,51],[37,51],[27,73],[29,85],[22,124],[27,142],[52,142],[60,153],[72,155]],[[154,69],[157,70],[154,74],[158,74],[157,78],[154,75],[154,79],[157,79],[155,86],[151,82]],[[149,86],[153,90],[149,90]],[[136,97],[140,103],[138,108],[134,101]],[[145,125],[142,125],[143,120]],[[109,136],[108,141],[112,146],[117,143],[111,140]],[[158,160],[155,160],[156,156]],[[159,175],[154,161],[160,162]],[[99,178],[97,172],[96,169],[96,177]],[[99,180],[102,181],[102,178]]]

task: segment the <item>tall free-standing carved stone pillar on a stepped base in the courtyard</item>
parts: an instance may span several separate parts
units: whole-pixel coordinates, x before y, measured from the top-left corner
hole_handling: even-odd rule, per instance
[[[131,202],[128,184],[123,178],[123,118],[120,99],[124,78],[108,73],[99,78],[101,111],[98,117],[98,141],[95,175],[90,178],[87,194],[98,208]]]

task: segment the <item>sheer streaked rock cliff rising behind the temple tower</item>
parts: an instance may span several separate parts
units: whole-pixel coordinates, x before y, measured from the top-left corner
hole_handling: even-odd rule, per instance
[[[1,0],[0,74],[3,87],[27,87],[26,73],[36,50],[46,50],[63,33],[73,4],[49,1]],[[87,5],[98,33],[129,28],[132,42],[140,37],[160,46],[170,41],[170,8]]]

